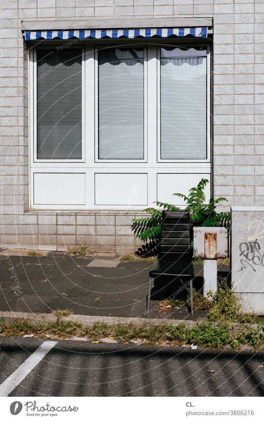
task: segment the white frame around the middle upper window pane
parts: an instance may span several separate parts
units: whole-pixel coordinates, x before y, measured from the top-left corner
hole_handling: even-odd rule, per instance
[[[142,45],[144,49],[144,159],[100,159],[99,158],[99,120],[98,120],[98,51],[105,48],[122,48],[122,44],[115,45],[95,45],[95,162],[96,163],[146,163],[148,162],[148,55],[147,55],[147,46]],[[129,45],[125,45],[129,48]],[[133,45],[131,45],[133,48]]]

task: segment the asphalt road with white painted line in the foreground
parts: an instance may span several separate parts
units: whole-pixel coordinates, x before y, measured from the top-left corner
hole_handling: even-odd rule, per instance
[[[9,396],[264,396],[263,365],[264,352],[0,338]]]

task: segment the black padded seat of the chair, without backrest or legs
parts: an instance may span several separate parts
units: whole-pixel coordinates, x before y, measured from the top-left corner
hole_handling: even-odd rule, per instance
[[[193,276],[193,264],[185,260],[160,259],[150,270],[150,276],[170,275],[170,276]]]

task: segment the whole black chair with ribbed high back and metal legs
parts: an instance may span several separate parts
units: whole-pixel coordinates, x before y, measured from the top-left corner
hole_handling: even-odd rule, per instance
[[[193,314],[193,263],[191,251],[191,225],[188,211],[163,211],[158,262],[149,272],[147,311],[150,309],[151,284],[156,277],[170,276],[190,286],[191,314]]]

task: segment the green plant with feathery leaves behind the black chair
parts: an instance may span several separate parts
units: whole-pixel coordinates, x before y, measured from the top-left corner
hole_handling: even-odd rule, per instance
[[[230,212],[215,211],[219,202],[227,201],[225,197],[218,197],[206,203],[205,187],[209,183],[207,179],[201,179],[196,187],[189,190],[189,195],[182,193],[174,193],[186,202],[185,210],[190,212],[190,220],[192,225],[198,227],[226,227],[229,228]],[[146,218],[133,219],[131,229],[136,238],[143,241],[141,247],[138,248],[136,254],[142,257],[156,256],[158,254],[158,243],[161,231],[162,210],[179,211],[179,207],[169,203],[154,202],[159,207],[147,208],[150,216]]]

